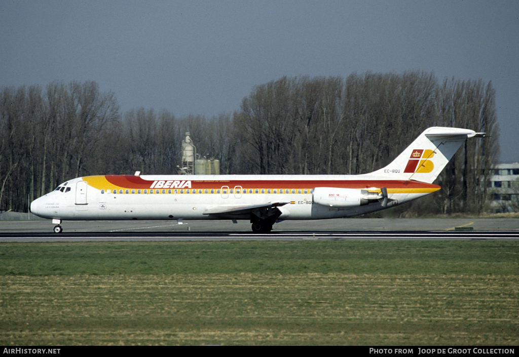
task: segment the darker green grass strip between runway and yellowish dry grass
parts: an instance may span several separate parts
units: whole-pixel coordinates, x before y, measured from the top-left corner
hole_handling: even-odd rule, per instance
[[[88,242],[0,244],[0,276],[519,271],[515,241]]]

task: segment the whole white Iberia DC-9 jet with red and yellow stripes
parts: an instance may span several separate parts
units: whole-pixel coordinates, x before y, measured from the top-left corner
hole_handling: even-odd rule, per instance
[[[285,219],[327,219],[384,210],[433,193],[469,129],[431,127],[388,166],[359,175],[98,175],[59,185],[31,202],[33,214],[62,221],[247,219],[268,233]]]

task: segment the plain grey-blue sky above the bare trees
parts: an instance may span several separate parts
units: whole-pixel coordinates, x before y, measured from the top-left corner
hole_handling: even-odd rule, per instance
[[[519,161],[516,0],[3,0],[0,23],[0,86],[94,80],[122,113],[233,113],[284,75],[491,80],[501,161]]]

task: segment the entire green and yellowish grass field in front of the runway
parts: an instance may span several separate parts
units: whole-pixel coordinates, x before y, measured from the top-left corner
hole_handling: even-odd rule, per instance
[[[0,344],[518,345],[519,242],[3,243]]]

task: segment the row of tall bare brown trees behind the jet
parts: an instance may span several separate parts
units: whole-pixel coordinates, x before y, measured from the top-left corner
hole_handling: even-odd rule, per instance
[[[460,148],[436,181],[439,194],[404,209],[481,212],[499,150],[491,82],[440,82],[424,72],[282,77],[255,86],[233,114],[211,118],[120,113],[115,94],[92,81],[1,92],[3,210],[26,211],[73,177],[174,174],[185,132],[200,156],[220,160],[222,174],[358,174],[388,164],[427,127],[453,126],[490,136]]]

